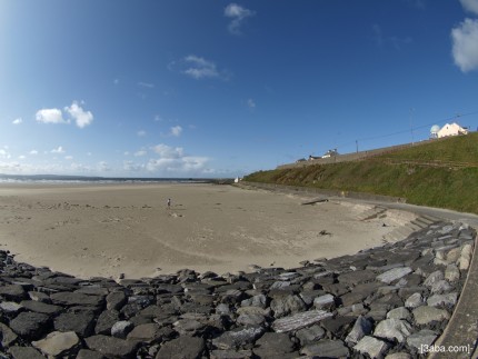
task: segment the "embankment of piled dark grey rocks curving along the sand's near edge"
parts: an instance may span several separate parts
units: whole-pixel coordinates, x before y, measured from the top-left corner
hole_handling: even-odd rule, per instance
[[[296,269],[119,282],[0,251],[0,358],[420,357],[450,319],[475,238],[438,222]]]

